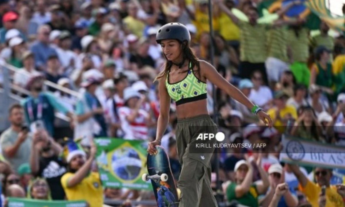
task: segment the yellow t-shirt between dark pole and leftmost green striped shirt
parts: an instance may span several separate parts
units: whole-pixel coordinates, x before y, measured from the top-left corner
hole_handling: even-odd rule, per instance
[[[219,17],[219,33],[227,41],[239,40],[239,28],[225,13]]]

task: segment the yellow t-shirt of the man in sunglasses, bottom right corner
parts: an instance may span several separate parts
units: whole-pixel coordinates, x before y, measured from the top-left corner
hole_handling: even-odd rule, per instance
[[[319,194],[321,193],[321,187],[318,184],[312,183],[308,180],[307,185],[303,188],[298,186],[299,190],[306,195],[307,200],[313,207],[318,207]],[[341,195],[337,193],[335,186],[326,188],[326,207],[344,206],[344,201]]]

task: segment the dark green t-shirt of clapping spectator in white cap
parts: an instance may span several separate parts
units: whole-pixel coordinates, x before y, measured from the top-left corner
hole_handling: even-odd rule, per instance
[[[256,185],[250,186],[249,191],[240,198],[236,198],[235,188],[237,184],[231,183],[226,189],[226,196],[229,202],[232,200],[237,200],[240,204],[251,207],[258,207],[258,192]]]

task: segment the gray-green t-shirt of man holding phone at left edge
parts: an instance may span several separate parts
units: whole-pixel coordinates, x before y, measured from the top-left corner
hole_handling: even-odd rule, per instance
[[[18,167],[21,164],[28,163],[30,159],[30,150],[31,150],[31,136],[30,134],[26,138],[26,140],[20,145],[17,150],[16,155],[9,158],[4,153],[4,150],[10,146],[13,146],[18,138],[18,132],[12,130],[12,128],[8,128],[1,134],[0,137],[0,146],[2,150],[2,154],[4,158],[12,165],[14,170],[18,170]]]

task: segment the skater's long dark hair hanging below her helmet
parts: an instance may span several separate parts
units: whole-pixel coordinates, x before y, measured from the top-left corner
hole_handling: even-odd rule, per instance
[[[180,42],[180,45],[182,46],[182,53],[183,53],[183,59],[184,60],[189,60],[191,62],[191,68],[194,68],[194,66],[197,66],[197,70],[196,72],[199,75],[199,79],[200,79],[200,63],[199,63],[199,59],[195,56],[193,49],[189,47],[189,44],[187,43],[187,41],[185,42]],[[162,77],[166,77],[171,66],[172,66],[172,62],[170,60],[167,59],[167,57],[164,55],[165,57],[165,65],[164,65],[164,70],[162,70],[157,77],[155,78],[154,82],[157,81],[158,79],[162,78]],[[182,71],[182,72],[188,72],[188,70],[186,71]]]

